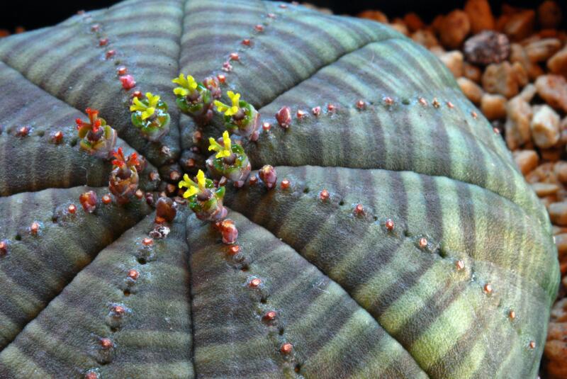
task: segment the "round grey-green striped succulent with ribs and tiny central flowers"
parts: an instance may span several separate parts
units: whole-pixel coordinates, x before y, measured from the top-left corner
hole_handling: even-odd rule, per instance
[[[129,0],[1,40],[0,86],[1,378],[537,375],[547,215],[393,30]]]

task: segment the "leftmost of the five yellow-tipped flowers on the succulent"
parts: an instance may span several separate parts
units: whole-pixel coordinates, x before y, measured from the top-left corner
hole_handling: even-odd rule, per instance
[[[134,97],[130,112],[133,125],[140,129],[147,140],[157,141],[169,132],[167,104],[159,96],[147,92],[146,98],[142,100]]]

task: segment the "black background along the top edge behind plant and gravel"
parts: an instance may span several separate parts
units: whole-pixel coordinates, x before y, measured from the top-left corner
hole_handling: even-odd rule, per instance
[[[216,1],[216,0],[211,0]],[[431,21],[440,13],[448,13],[452,9],[462,8],[465,0],[313,0],[319,6],[332,9],[335,13],[357,14],[365,9],[379,9],[388,17],[403,16],[413,11],[425,21]],[[567,18],[567,0],[559,0],[563,4],[563,25]],[[92,10],[111,6],[116,0],[76,0],[76,1],[4,1],[0,10],[0,29],[14,30],[23,26],[27,30],[51,26],[69,18],[79,10]],[[493,12],[498,14],[502,4],[536,8],[539,0],[492,0]]]

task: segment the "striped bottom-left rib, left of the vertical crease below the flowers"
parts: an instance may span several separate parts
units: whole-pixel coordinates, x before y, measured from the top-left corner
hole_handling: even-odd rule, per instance
[[[102,378],[192,377],[186,214],[167,239],[155,240],[154,258],[140,264],[147,249],[141,236],[154,218],[100,251],[0,353],[1,378],[80,378],[90,369]],[[140,273],[136,281],[128,279],[130,269]],[[122,317],[113,317],[113,305],[125,307]],[[108,353],[102,338],[114,344]]]

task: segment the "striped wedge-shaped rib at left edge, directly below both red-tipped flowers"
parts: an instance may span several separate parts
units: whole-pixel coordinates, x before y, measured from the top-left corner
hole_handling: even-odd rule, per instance
[[[0,198],[0,230],[9,240],[9,253],[0,259],[0,347],[6,347],[103,247],[151,211],[137,201],[84,213],[79,196],[91,189],[99,197],[108,193],[106,188],[81,186]],[[77,206],[74,215],[67,212],[71,204]],[[29,230],[33,222],[40,224],[38,235]]]

